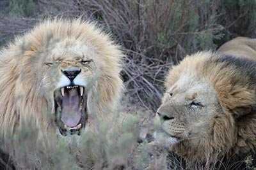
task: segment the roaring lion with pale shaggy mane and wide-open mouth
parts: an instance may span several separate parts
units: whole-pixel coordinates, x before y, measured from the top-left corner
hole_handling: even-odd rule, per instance
[[[0,52],[0,133],[29,121],[79,134],[112,120],[122,94],[120,46],[95,24],[46,20]]]

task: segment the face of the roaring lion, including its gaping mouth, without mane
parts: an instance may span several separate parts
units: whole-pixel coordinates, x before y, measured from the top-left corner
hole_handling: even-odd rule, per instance
[[[54,96],[53,112],[61,134],[67,131],[71,134],[79,133],[81,127],[88,124],[89,106],[95,102],[89,93],[93,87],[97,87],[97,82],[102,76],[102,63],[95,57],[97,54],[82,42],[72,42],[71,39],[68,41],[69,46],[67,42],[57,43],[49,51],[42,66],[45,67],[46,73],[42,87],[49,88],[47,86],[51,83],[51,93]],[[74,50],[76,48],[77,50]],[[88,94],[91,99],[88,99]]]

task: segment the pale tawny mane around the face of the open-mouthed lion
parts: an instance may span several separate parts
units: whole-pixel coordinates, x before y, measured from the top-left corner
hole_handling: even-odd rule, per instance
[[[53,91],[61,72],[48,73],[54,66],[47,66],[47,62],[68,66],[68,57],[88,54],[99,76],[87,82],[93,83],[88,93],[88,124],[97,126],[97,121],[113,120],[123,89],[120,71],[124,54],[120,46],[95,24],[80,19],[47,20],[1,49],[1,139],[6,141],[8,134],[22,130],[29,121],[45,134],[56,131]]]

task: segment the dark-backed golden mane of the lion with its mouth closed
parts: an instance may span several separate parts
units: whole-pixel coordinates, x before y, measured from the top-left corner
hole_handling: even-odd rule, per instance
[[[240,159],[243,160],[246,154],[254,153],[255,73],[256,62],[253,60],[212,52],[188,56],[178,66],[173,67],[166,77],[166,89],[181,80],[184,74],[194,74],[196,81],[207,80],[211,83],[216,90],[219,106],[211,113],[213,115],[207,130],[202,129],[204,138],[196,139],[196,144],[193,142],[195,139],[184,139],[171,146],[171,150],[184,157],[190,166],[206,162],[213,164],[221,157],[227,160],[233,157],[236,160],[241,156]]]

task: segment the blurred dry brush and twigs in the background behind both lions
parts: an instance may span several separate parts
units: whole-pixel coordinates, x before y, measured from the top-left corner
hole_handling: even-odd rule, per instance
[[[164,75],[185,55],[255,37],[255,8],[255,0],[1,0],[0,45],[44,18],[96,21],[124,46],[129,102],[156,110]]]

